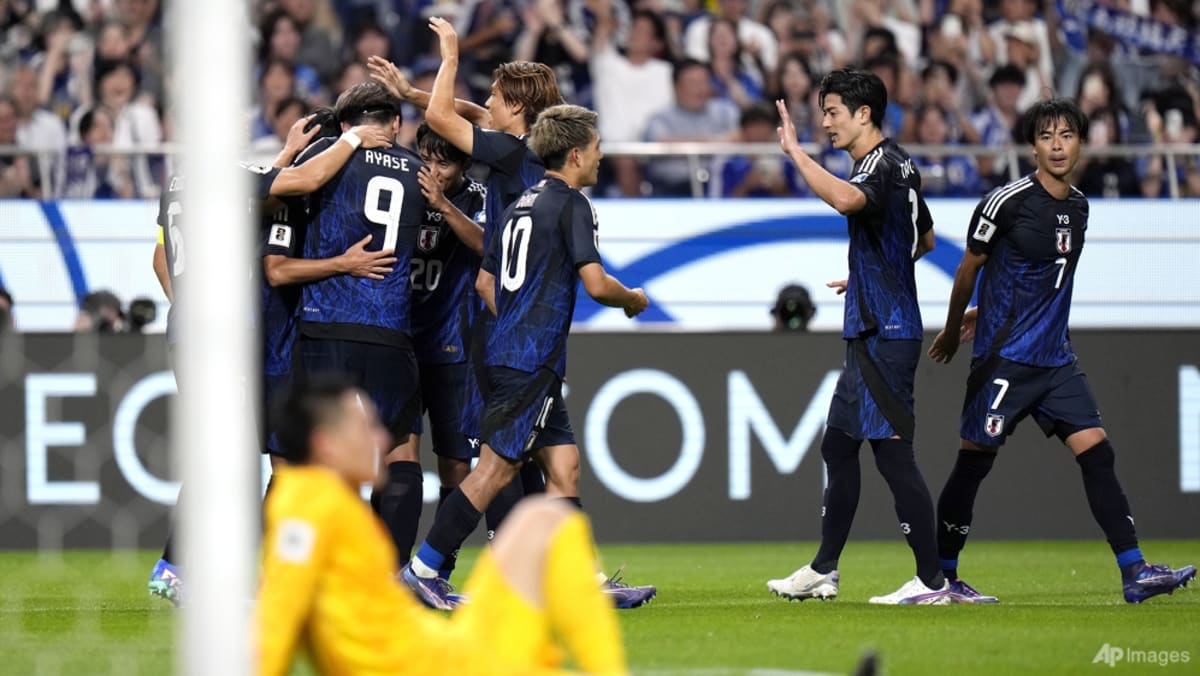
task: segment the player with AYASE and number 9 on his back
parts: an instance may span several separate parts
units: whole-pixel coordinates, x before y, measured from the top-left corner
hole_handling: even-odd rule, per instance
[[[343,128],[364,124],[395,136],[400,101],[374,82],[344,91],[335,106]],[[334,143],[323,139],[317,145]],[[388,474],[378,486],[378,509],[396,549],[407,561],[416,539],[424,475],[415,445],[420,378],[412,340],[412,277],[416,233],[425,217],[418,183],[424,164],[395,145],[358,150],[331,181],[313,195],[316,220],[304,257],[329,258],[371,235],[371,251],[392,251],[394,270],[382,280],[336,275],[304,287],[301,370],[354,378],[379,411],[397,445],[385,455]]]

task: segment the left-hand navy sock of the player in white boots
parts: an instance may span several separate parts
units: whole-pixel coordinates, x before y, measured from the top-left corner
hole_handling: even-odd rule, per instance
[[[838,568],[841,550],[850,537],[850,526],[854,522],[862,489],[862,469],[858,465],[860,443],[833,429],[827,429],[821,441],[821,457],[828,471],[829,486],[821,508],[821,548],[811,566],[822,575]]]

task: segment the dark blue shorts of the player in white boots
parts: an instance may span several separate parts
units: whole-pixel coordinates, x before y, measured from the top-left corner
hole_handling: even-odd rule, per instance
[[[912,441],[912,389],[919,359],[919,340],[875,335],[846,341],[846,366],[827,424],[856,439],[899,436]]]

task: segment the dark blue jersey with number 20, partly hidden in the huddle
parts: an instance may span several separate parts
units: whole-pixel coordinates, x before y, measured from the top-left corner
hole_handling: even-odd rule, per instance
[[[449,196],[468,219],[482,223],[487,189],[467,179]],[[421,364],[467,360],[468,331],[478,313],[474,298],[480,258],[463,244],[440,211],[425,210],[413,255],[413,348]]]

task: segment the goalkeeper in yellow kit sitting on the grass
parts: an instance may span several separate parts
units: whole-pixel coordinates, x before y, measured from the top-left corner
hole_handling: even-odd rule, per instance
[[[569,659],[623,674],[612,603],[596,587],[587,519],[527,501],[481,555],[446,616],[395,580],[396,552],[358,487],[390,448],[370,399],[342,379],[296,387],[276,409],[282,468],[266,501],[254,617],[257,670],[299,651],[320,674],[538,674]]]

